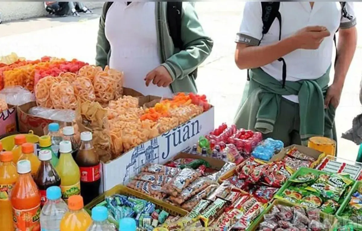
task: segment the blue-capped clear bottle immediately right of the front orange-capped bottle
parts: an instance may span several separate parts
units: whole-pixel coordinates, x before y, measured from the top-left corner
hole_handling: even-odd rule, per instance
[[[96,206],[92,209],[92,224],[87,231],[115,231],[115,226],[108,222],[108,210],[104,206]]]

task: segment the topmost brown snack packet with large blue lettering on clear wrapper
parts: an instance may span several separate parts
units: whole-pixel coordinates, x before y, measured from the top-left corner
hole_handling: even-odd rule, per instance
[[[163,190],[173,197],[181,193],[188,185],[194,182],[201,174],[191,168],[184,168],[167,184],[163,186]]]

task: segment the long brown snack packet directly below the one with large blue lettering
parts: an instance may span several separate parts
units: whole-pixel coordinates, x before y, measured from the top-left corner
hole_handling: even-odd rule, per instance
[[[206,177],[201,177],[192,182],[189,186],[187,186],[184,190],[182,190],[182,192],[178,194],[176,197],[171,196],[169,199],[173,203],[181,205],[192,196],[196,195],[197,193],[207,188],[207,186],[209,186],[210,184],[212,184],[212,181],[210,181]]]

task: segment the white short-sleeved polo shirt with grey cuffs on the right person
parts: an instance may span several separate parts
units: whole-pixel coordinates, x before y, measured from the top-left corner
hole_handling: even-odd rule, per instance
[[[331,35],[324,38],[316,50],[298,49],[283,56],[287,71],[287,81],[317,79],[331,65],[333,53],[333,36],[338,28],[346,29],[356,25],[353,3],[346,3],[346,10],[352,20],[342,17],[340,2],[280,2],[279,12],[282,18],[281,39],[290,37],[306,26],[325,26]],[[260,2],[245,3],[244,13],[237,33],[236,42],[260,46],[270,45],[279,40],[279,21],[275,19],[269,32],[262,37],[262,9]],[[260,41],[261,40],[261,41]],[[282,80],[282,62],[275,60],[261,67],[278,81]],[[298,102],[298,96],[283,96]]]

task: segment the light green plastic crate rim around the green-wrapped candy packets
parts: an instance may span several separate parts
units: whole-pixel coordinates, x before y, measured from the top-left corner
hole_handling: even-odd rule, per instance
[[[330,172],[323,172],[323,171],[319,171],[317,169],[312,169],[312,168],[300,168],[298,169],[298,171],[296,171],[288,180],[287,182],[285,182],[285,184],[283,184],[283,186],[278,190],[277,193],[275,193],[274,195],[274,199],[280,199],[283,200],[283,196],[282,193],[284,192],[284,190],[286,190],[287,188],[290,188],[290,186],[292,184],[294,184],[294,182],[291,182],[290,180],[294,180],[296,179],[298,176],[306,174],[306,173],[313,173],[314,175],[320,175],[320,174],[327,174],[327,175],[332,175],[333,173]],[[355,183],[354,180],[350,179],[352,181],[352,185]],[[350,190],[351,187],[349,189],[347,189],[347,192],[345,192],[345,195],[349,195],[350,194]],[[341,198],[340,201],[338,202],[341,206],[345,203],[346,199],[348,198],[348,196],[345,196],[344,198]],[[285,200],[286,201],[286,200]]]

